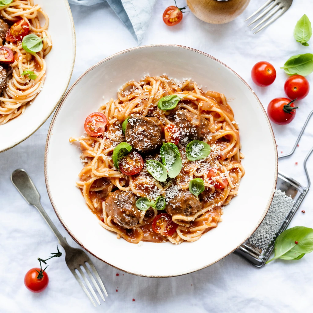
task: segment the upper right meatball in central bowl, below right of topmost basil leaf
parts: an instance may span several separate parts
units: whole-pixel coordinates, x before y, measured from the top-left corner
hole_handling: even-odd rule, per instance
[[[209,122],[199,114],[188,110],[177,110],[174,124],[180,129],[182,138],[203,140],[209,132]]]

